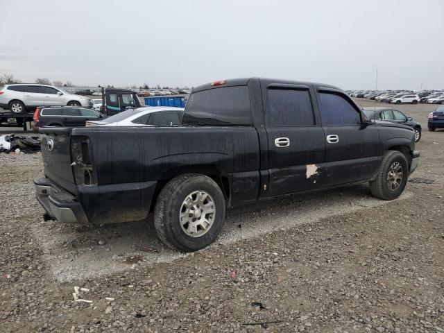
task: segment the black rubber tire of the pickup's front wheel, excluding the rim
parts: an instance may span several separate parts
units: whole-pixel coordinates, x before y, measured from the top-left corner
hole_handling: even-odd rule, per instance
[[[402,178],[400,179],[398,187],[392,189],[388,185],[388,171],[395,163],[398,163],[402,168]],[[402,191],[404,191],[407,185],[407,178],[409,178],[409,164],[404,154],[399,151],[387,151],[379,166],[376,178],[370,180],[370,191],[376,198],[393,200],[398,198],[398,196],[402,194]]]

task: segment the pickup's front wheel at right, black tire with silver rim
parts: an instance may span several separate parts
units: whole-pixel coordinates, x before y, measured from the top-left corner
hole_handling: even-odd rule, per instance
[[[377,171],[375,180],[370,181],[373,196],[384,200],[398,198],[407,185],[409,164],[403,153],[388,151]]]

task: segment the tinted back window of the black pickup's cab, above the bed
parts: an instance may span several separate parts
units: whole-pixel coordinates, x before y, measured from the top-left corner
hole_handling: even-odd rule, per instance
[[[219,87],[194,92],[187,101],[183,123],[200,126],[251,125],[248,87]]]

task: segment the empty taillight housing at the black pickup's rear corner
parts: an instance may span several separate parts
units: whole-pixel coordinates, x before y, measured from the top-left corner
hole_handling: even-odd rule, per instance
[[[76,185],[97,183],[89,137],[71,137],[71,167]]]

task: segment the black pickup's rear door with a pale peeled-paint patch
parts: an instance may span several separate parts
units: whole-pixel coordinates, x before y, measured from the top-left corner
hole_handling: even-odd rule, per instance
[[[323,187],[325,137],[306,85],[262,88],[268,136],[268,196]]]

